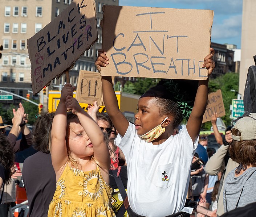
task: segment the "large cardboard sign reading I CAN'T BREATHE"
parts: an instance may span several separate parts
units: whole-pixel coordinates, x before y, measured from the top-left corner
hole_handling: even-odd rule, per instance
[[[207,79],[214,12],[104,6],[102,49],[110,63],[101,75]]]

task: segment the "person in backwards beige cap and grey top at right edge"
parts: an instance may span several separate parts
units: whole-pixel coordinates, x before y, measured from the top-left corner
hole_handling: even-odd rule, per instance
[[[247,113],[236,121],[231,136],[230,157],[240,165],[225,179],[225,212],[256,202],[256,113]]]

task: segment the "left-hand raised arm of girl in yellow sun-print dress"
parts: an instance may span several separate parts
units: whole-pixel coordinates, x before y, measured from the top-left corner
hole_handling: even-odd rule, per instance
[[[51,155],[52,165],[56,176],[61,171],[63,166],[68,162],[68,153],[66,147],[66,125],[67,125],[67,109],[65,106],[66,97],[73,96],[71,84],[66,83],[61,90],[60,103],[56,109],[51,131]]]

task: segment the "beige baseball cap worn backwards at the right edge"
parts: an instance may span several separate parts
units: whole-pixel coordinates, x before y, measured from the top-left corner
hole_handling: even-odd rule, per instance
[[[233,129],[239,130],[241,135],[233,135]],[[256,139],[256,113],[250,113],[236,121],[231,129],[231,136],[236,141]]]

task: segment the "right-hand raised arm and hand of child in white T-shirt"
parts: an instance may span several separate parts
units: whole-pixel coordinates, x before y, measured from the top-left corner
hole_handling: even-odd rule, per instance
[[[215,68],[215,63],[212,60],[212,56],[214,55],[215,51],[213,48],[211,48],[210,50],[211,53],[204,58],[203,64],[203,67],[206,67],[208,69],[208,79],[200,80],[198,82],[198,89],[196,92],[194,107],[187,122],[187,131],[193,142],[195,142],[200,132],[200,128],[203,121],[203,115],[208,100],[209,76],[212,74],[212,71]]]

